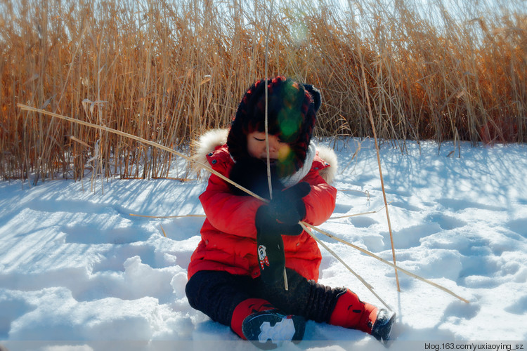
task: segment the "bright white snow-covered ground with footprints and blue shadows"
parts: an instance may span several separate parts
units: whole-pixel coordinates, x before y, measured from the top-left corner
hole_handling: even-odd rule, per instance
[[[321,229],[392,260],[375,147],[337,145],[339,191]],[[382,171],[397,264],[464,303],[356,249],[318,235],[398,314],[392,350],[527,349],[527,146],[384,145]],[[174,176],[174,175],[171,175]],[[245,350],[193,310],[186,268],[206,183],[176,180],[0,182],[0,345],[8,350]],[[163,234],[166,233],[167,237]],[[381,305],[323,250],[320,282]],[[514,340],[513,343],[509,341]],[[523,340],[523,341],[522,341]],[[380,348],[378,348],[380,347]],[[1,348],[1,347],[0,347]],[[382,350],[358,331],[308,322],[290,350]]]

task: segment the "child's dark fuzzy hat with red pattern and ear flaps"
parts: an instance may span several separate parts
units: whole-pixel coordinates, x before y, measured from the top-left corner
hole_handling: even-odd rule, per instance
[[[320,92],[311,85],[285,77],[256,81],[243,95],[230,126],[227,146],[235,161],[246,159],[247,135],[265,131],[266,96],[268,94],[268,133],[289,145],[289,152],[277,162],[279,176],[289,176],[301,168],[306,159]]]

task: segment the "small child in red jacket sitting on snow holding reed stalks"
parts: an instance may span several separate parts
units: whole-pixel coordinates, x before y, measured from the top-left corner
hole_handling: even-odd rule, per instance
[[[188,266],[188,301],[262,348],[301,340],[306,319],[359,329],[378,340],[388,340],[395,320],[393,312],[360,301],[349,289],[317,283],[320,250],[299,222],[324,223],[337,197],[328,184],[337,171],[336,156],[311,142],[319,107],[320,93],[312,86],[284,77],[262,79],[243,96],[230,130],[200,139],[204,162],[271,201],[210,176],[200,195],[207,218]]]

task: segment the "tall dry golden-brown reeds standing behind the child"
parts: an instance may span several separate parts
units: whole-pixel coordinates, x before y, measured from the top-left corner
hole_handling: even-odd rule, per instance
[[[16,103],[183,148],[228,126],[265,62],[320,88],[317,135],[371,135],[369,94],[377,135],[402,151],[524,143],[525,1],[469,3],[4,0],[1,176],[169,176],[164,152]]]

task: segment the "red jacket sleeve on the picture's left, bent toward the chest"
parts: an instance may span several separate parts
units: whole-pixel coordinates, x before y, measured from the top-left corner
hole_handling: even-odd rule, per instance
[[[217,230],[256,239],[254,216],[262,201],[249,195],[233,194],[226,181],[214,174],[200,195],[200,201],[207,219]]]

